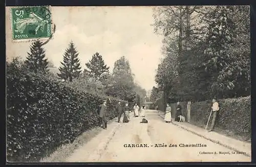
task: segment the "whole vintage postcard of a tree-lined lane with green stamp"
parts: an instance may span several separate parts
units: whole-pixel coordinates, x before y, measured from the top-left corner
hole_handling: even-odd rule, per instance
[[[7,162],[250,162],[249,6],[6,7]]]

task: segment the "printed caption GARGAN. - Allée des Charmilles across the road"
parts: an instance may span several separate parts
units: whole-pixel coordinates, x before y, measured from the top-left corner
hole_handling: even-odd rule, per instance
[[[156,147],[156,148],[164,148],[164,147],[207,147],[205,144],[124,144],[123,147]]]

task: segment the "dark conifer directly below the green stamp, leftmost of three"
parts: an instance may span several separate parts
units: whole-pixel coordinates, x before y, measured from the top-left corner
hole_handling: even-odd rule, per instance
[[[30,46],[30,53],[28,53],[27,60],[25,60],[26,67],[34,73],[49,71],[48,60],[45,58],[45,50],[42,48],[42,42],[36,40]]]

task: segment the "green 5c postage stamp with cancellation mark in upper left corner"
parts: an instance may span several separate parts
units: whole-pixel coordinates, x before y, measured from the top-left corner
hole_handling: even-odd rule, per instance
[[[13,7],[10,10],[13,40],[51,37],[49,6]]]

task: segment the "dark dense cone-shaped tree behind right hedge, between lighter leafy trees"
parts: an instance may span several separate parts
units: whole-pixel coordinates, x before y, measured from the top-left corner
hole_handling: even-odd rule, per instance
[[[204,63],[204,58],[199,56],[203,55],[202,46],[204,45],[183,51],[182,56],[178,58],[179,84],[176,88],[176,96],[181,101],[203,101],[211,97],[209,91],[211,78],[201,65]]]

